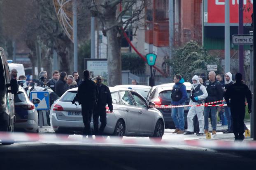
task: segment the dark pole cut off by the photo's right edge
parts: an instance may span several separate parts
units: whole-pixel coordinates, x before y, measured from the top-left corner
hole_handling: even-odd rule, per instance
[[[253,3],[253,11],[256,11],[256,3]],[[254,16],[253,17],[253,30],[254,32],[256,32],[256,17]],[[256,34],[254,34],[254,39],[256,39]],[[256,50],[256,43],[254,41],[254,45],[253,45],[253,50],[255,51]],[[255,58],[256,57],[256,53],[254,53],[253,55]],[[253,66],[256,65],[256,60],[253,61]],[[253,67],[253,82],[256,81],[256,67]],[[254,95],[256,93],[256,86],[254,85],[254,89],[253,89],[253,103],[252,105],[253,106],[256,106],[256,95]],[[256,123],[256,116],[255,116],[255,110],[253,110],[253,112],[251,113],[253,115],[253,124],[255,125]],[[256,126],[254,127],[251,127],[251,129],[253,129],[253,132],[256,132]],[[256,140],[256,135],[253,136],[254,140]]]

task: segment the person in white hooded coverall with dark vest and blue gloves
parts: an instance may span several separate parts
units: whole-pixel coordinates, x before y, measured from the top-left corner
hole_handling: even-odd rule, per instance
[[[188,129],[184,135],[194,134],[194,126],[193,126],[193,117],[197,115],[198,122],[199,122],[199,133],[198,136],[204,135],[204,126],[205,126],[205,118],[204,118],[204,109],[205,106],[196,107],[198,104],[204,103],[205,99],[208,96],[207,90],[205,86],[200,84],[199,76],[195,75],[192,78],[193,86],[191,90],[191,97],[190,97],[190,105],[191,108],[189,109],[189,113],[187,115],[188,119]]]

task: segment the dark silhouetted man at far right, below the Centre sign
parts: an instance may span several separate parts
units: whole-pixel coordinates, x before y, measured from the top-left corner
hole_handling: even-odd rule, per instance
[[[241,73],[235,75],[235,83],[227,88],[224,97],[231,110],[235,140],[244,140],[245,98],[248,112],[251,113],[251,91],[242,83]]]

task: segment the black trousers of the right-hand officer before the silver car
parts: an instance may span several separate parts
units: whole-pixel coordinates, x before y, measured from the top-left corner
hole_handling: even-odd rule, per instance
[[[100,129],[99,129],[99,117],[100,117]],[[106,108],[104,107],[95,107],[93,110],[93,126],[94,126],[94,132],[95,135],[102,135],[103,131],[107,124],[107,114],[106,114]]]

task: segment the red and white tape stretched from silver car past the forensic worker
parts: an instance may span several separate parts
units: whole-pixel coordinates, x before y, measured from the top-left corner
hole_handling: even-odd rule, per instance
[[[155,105],[155,106],[150,106],[151,108],[184,108],[184,107],[201,107],[201,106],[205,106],[205,107],[214,107],[214,106],[228,106],[227,104],[214,104],[214,103],[220,103],[223,102],[224,100],[220,100],[220,101],[214,101],[214,102],[209,102],[209,103],[202,103],[202,104],[198,104],[198,105],[178,105],[178,106],[173,106],[173,105]],[[248,103],[245,103],[246,105]]]

